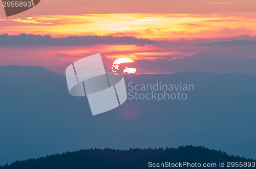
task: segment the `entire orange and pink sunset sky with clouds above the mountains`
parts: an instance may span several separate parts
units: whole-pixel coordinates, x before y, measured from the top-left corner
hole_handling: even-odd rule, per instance
[[[209,71],[197,65],[187,69],[188,57],[208,64],[216,55],[212,64],[233,65],[211,71],[229,73],[236,63],[255,63],[255,5],[253,0],[41,0],[11,17],[1,7],[0,66],[44,66],[63,74],[70,63],[101,53],[110,67],[126,57],[138,73],[176,73]],[[184,70],[162,66],[178,61]]]

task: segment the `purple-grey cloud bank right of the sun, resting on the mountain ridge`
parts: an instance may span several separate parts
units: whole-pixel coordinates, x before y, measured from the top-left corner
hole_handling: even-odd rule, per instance
[[[255,65],[256,59],[222,59],[216,54],[203,51],[189,57],[170,61],[165,59],[135,61],[129,66],[137,68],[137,73],[145,73],[146,70],[157,70],[158,72],[161,70],[162,72],[169,73],[198,71],[219,74],[246,73],[256,75]]]

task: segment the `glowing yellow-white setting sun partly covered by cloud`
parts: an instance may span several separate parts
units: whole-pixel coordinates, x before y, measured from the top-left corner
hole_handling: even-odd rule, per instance
[[[123,73],[136,73],[136,68],[120,67],[122,63],[133,63],[134,61],[129,58],[119,58],[112,65],[112,71],[118,72],[122,71]]]

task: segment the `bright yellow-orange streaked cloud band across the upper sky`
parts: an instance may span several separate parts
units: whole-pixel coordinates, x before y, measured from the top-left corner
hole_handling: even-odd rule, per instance
[[[0,18],[0,34],[134,36],[155,40],[256,36],[255,13],[87,14]],[[14,23],[15,22],[15,23]],[[8,30],[8,32],[7,32]],[[228,30],[228,31],[227,31]]]

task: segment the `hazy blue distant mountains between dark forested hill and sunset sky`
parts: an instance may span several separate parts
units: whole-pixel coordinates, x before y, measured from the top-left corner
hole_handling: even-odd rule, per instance
[[[90,148],[205,146],[256,158],[256,76],[125,75],[126,84],[191,83],[187,100],[127,100],[92,116],[66,78],[42,67],[0,67],[0,164]],[[129,87],[127,86],[127,89]]]

